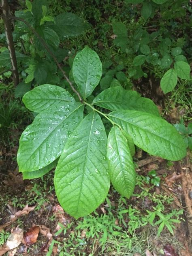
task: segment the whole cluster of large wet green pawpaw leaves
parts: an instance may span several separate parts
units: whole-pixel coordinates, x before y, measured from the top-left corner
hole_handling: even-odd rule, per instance
[[[160,117],[154,102],[137,92],[111,87],[92,104],[87,103],[101,76],[99,56],[85,47],[73,62],[73,78],[82,102],[76,102],[62,87],[49,84],[23,96],[26,107],[38,115],[21,135],[19,171],[24,179],[32,179],[56,166],[58,200],[75,218],[91,213],[105,200],[110,182],[123,196],[132,195],[134,145],[168,160],[186,155],[181,135]],[[83,115],[86,105],[89,111]],[[111,123],[108,138],[101,117]]]

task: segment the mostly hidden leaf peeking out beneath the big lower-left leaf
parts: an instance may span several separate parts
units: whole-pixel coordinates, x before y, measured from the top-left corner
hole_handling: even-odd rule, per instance
[[[57,164],[58,159],[53,161],[51,164],[43,167],[42,169],[39,169],[37,171],[31,171],[31,172],[23,172],[23,179],[36,179],[40,178],[46,173],[49,173]]]

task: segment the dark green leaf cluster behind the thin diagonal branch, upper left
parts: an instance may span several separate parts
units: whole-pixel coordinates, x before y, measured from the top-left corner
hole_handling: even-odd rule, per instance
[[[26,7],[26,10],[15,11],[15,16],[28,22],[32,29],[43,38],[58,62],[62,62],[69,49],[62,48],[60,43],[68,37],[83,34],[87,30],[87,23],[73,13],[60,13],[56,17],[48,15],[47,0],[33,0],[32,2],[26,0]],[[20,77],[25,81],[26,87],[28,83],[30,85],[60,84],[62,75],[58,72],[58,67],[41,39],[31,31],[26,23],[20,20],[15,21],[13,39],[22,41],[25,52],[32,56],[31,58],[16,51],[18,66],[22,64]],[[0,53],[0,66],[11,68],[8,49]],[[20,95],[23,96],[24,93]]]

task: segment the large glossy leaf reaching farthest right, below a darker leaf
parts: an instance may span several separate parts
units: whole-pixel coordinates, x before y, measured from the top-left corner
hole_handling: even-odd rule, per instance
[[[181,135],[160,117],[131,110],[113,111],[109,117],[128,132],[135,145],[151,155],[173,161],[186,155]]]

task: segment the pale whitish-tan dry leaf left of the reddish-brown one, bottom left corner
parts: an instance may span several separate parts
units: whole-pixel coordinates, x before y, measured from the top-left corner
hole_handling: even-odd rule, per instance
[[[6,246],[9,248],[9,250],[12,250],[19,246],[23,239],[23,230],[17,226],[15,231],[11,233],[7,239]]]

